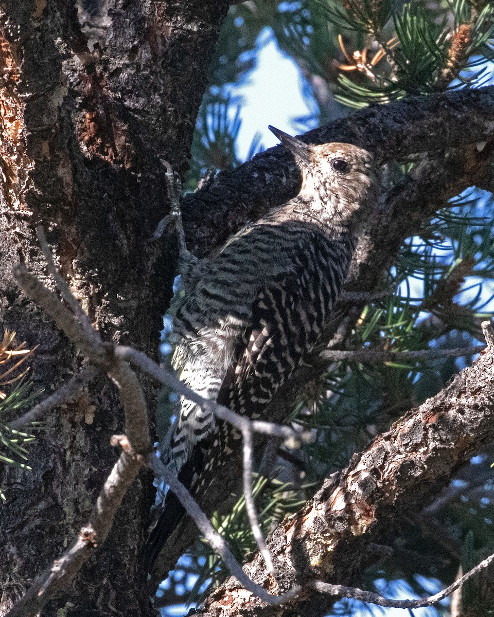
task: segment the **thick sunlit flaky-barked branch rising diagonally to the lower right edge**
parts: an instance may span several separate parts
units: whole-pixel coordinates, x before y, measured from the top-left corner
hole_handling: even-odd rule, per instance
[[[494,349],[483,352],[435,397],[377,436],[348,467],[324,481],[314,499],[285,519],[268,538],[276,581],[262,557],[244,566],[270,592],[294,584],[301,594],[283,607],[254,598],[230,577],[198,611],[203,617],[324,615],[332,598],[315,594],[308,581],[352,584],[377,561],[400,517],[420,511],[475,452],[492,442]]]

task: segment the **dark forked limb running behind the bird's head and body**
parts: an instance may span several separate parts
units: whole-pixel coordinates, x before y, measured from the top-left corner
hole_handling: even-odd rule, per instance
[[[409,157],[419,160],[414,172],[383,197],[379,217],[361,238],[354,255],[347,291],[382,287],[385,268],[396,257],[401,243],[419,230],[438,208],[446,205],[448,199],[472,184],[493,189],[490,164],[493,128],[494,87],[489,86],[370,106],[301,136],[314,143],[348,141],[366,147],[381,164]],[[479,142],[483,146],[480,149]],[[188,247],[201,256],[215,251],[228,234],[246,221],[295,196],[299,181],[293,159],[280,146],[258,154],[233,172],[220,173],[212,184],[183,202]],[[361,308],[354,305],[356,317]],[[327,340],[348,310],[348,305],[338,305]],[[343,347],[353,325],[351,318],[349,325],[340,341]],[[274,422],[285,420],[304,385],[323,372],[317,361],[312,368],[304,367],[280,389],[264,418]],[[262,447],[259,437],[257,443]],[[238,453],[208,489],[201,501],[203,510],[212,513],[221,504],[228,507],[225,495],[237,491],[240,476],[241,453]],[[165,578],[196,537],[196,527],[190,521],[178,526],[156,561],[154,585]]]

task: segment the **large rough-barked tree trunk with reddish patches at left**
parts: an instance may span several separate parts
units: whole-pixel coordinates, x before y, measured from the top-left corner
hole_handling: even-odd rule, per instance
[[[0,1],[0,324],[38,345],[45,394],[82,358],[15,286],[22,260],[44,272],[43,225],[70,288],[104,339],[156,356],[175,269],[173,242],[149,242],[169,200],[162,160],[183,174],[228,2]],[[0,615],[73,540],[117,459],[123,426],[104,378],[43,418],[28,473],[2,466]],[[155,389],[143,379],[150,408]],[[141,473],[110,537],[41,615],[154,615],[138,552],[154,495]]]

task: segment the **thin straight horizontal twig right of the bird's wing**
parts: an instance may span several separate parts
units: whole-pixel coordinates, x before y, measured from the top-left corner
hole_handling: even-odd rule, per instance
[[[454,357],[480,354],[484,351],[484,345],[474,347],[458,347],[456,349],[419,349],[414,351],[386,351],[384,349],[351,349],[337,350],[325,349],[317,358],[324,362],[407,362],[409,360],[434,360],[435,358]]]

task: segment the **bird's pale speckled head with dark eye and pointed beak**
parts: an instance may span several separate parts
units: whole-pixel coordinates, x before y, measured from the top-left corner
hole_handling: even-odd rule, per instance
[[[294,155],[302,175],[299,196],[314,215],[360,235],[379,204],[380,174],[370,152],[345,143],[306,144],[269,130]]]

